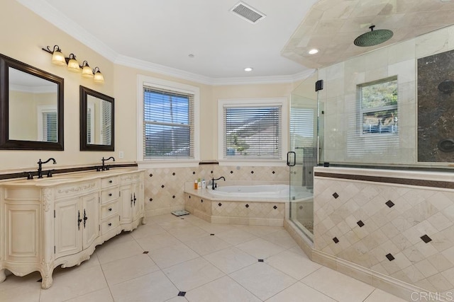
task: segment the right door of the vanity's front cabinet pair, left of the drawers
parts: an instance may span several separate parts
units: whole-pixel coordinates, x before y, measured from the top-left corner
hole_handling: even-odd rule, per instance
[[[99,193],[82,196],[82,248],[88,248],[99,236]]]

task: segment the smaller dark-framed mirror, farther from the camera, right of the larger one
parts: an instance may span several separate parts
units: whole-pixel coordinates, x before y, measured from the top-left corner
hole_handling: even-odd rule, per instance
[[[114,151],[114,98],[80,86],[80,150]]]

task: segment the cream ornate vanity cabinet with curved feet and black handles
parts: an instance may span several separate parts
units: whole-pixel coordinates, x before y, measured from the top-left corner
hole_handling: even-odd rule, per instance
[[[74,173],[0,182],[0,282],[88,260],[96,245],[145,223],[143,171]]]

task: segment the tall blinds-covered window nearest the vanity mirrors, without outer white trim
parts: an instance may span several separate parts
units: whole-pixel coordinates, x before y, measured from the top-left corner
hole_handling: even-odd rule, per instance
[[[194,95],[143,86],[143,157],[194,158]]]

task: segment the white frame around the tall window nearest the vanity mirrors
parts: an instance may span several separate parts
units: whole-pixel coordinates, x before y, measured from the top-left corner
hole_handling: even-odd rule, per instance
[[[156,89],[162,89],[166,91],[175,91],[177,93],[188,93],[194,95],[194,158],[145,158],[143,151],[143,122],[144,122],[144,100],[143,100],[143,88],[144,86],[153,87]],[[153,167],[170,167],[172,163],[175,166],[194,166],[198,165],[200,161],[200,122],[199,122],[199,111],[200,111],[200,89],[196,86],[191,86],[175,81],[167,81],[163,79],[157,79],[150,76],[138,75],[138,93],[137,93],[137,162],[143,164],[150,164]],[[145,167],[146,168],[146,167]]]

